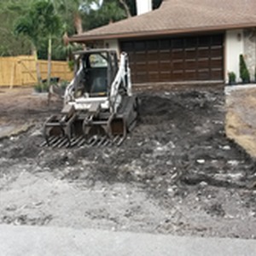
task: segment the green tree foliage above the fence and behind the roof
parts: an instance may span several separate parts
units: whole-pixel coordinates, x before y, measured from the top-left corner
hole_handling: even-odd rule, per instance
[[[103,0],[98,9],[91,9],[93,2],[99,4],[102,0],[0,0],[0,55],[29,54],[32,43],[38,49],[39,58],[46,59],[50,33],[53,58],[66,59],[66,48],[72,47],[63,44],[64,33],[71,36],[125,19],[128,15],[125,5],[129,14],[136,15],[135,0]],[[161,2],[153,0],[154,9]]]

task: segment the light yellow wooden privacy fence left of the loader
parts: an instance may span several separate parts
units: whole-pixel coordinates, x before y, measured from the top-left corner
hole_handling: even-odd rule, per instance
[[[47,61],[39,60],[42,79],[47,79]],[[51,77],[70,81],[73,72],[66,61],[51,61]],[[0,86],[37,84],[36,61],[31,55],[0,57]]]

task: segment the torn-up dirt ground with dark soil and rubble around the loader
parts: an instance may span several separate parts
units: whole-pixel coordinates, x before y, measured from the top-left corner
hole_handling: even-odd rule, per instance
[[[61,102],[1,90],[0,224],[255,238],[255,161],[225,135],[224,90],[139,97],[119,148],[56,149],[39,145]]]

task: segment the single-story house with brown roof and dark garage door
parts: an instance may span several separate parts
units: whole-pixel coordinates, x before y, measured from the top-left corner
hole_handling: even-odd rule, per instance
[[[163,0],[159,9],[102,26],[71,41],[130,56],[134,83],[227,82],[244,55],[256,62],[255,0]]]

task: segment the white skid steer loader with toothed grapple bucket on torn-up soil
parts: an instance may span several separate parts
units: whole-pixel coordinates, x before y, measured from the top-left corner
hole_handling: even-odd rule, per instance
[[[44,145],[120,145],[136,125],[138,99],[131,93],[126,53],[113,49],[76,52],[78,65],[59,115],[44,123]]]

